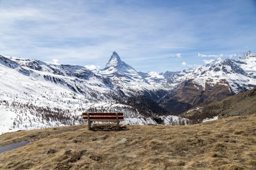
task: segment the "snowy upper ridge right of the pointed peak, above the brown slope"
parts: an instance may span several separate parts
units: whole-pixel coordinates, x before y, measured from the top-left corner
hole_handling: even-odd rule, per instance
[[[193,80],[197,89],[204,90],[206,84],[213,86],[218,83],[228,86],[231,92],[239,93],[256,85],[256,53],[248,51],[236,60],[217,58],[210,64],[178,72],[140,74],[158,88],[173,89],[185,80]]]

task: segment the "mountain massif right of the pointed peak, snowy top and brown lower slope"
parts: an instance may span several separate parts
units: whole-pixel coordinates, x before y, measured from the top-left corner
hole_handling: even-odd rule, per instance
[[[171,90],[159,104],[179,114],[200,103],[219,101],[256,85],[256,54],[248,51],[233,59],[218,58],[210,64],[183,71],[139,72],[151,85]]]

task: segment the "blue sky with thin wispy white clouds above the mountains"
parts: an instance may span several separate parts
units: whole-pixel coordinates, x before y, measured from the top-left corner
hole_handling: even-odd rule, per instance
[[[256,52],[256,0],[0,0],[0,55],[176,71]]]

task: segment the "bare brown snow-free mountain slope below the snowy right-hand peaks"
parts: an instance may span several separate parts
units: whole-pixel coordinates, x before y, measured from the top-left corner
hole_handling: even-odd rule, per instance
[[[201,86],[198,87],[192,79],[186,80],[172,90],[172,98],[162,99],[160,106],[173,115],[178,115],[198,104],[205,105],[234,95],[235,93],[230,92],[230,87],[227,85],[228,83],[225,80],[213,86],[206,82],[205,89],[203,89]]]

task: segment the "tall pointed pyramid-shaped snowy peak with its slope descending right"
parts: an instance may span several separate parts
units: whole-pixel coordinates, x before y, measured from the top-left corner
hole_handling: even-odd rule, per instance
[[[163,114],[168,113],[166,110],[162,109],[162,107],[159,108],[158,104],[163,97],[170,96],[170,92],[158,88],[158,86],[154,84],[150,84],[141,76],[140,72],[123,62],[117,52],[113,52],[105,68],[94,70],[94,72],[96,75],[109,78],[113,85],[124,92],[125,96],[136,99],[134,101],[135,103],[146,104],[147,108],[155,108],[154,110],[157,109]],[[139,95],[140,98],[134,98],[135,95]],[[141,96],[143,96],[143,99]],[[142,102],[147,100],[150,101],[146,103]]]

